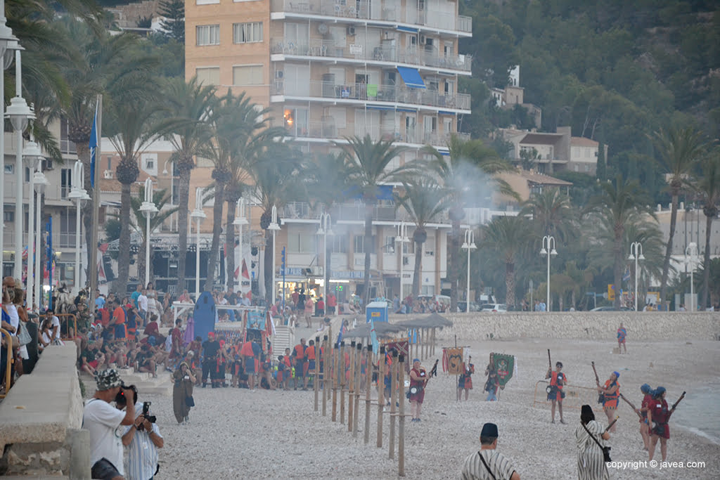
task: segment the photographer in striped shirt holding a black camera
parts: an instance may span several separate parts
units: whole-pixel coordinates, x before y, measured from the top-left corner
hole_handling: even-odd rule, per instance
[[[150,402],[141,405],[137,394],[132,401],[135,402],[135,411],[140,410],[140,415],[122,435],[122,445],[130,447],[127,450],[127,479],[148,480],[158,471],[158,448],[163,448],[164,441],[155,415],[150,415]],[[120,408],[120,404],[117,407]]]

